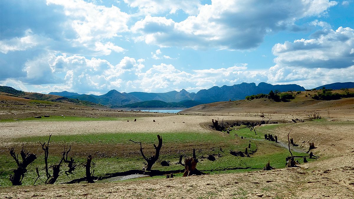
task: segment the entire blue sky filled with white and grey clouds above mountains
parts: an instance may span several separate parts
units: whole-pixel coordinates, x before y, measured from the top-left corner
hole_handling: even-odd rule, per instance
[[[0,85],[197,92],[354,81],[353,0],[1,0]]]

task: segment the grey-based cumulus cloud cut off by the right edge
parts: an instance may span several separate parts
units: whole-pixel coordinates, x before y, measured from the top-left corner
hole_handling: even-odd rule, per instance
[[[325,30],[314,39],[297,39],[276,44],[272,51],[279,66],[346,68],[353,65],[354,30],[339,27]]]

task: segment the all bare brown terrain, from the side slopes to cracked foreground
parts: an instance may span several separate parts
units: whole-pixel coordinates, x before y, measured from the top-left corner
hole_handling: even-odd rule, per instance
[[[27,99],[0,95],[0,120],[21,119],[36,115],[81,117],[137,118],[126,121],[16,121],[0,123],[0,153],[15,137],[99,133],[99,132],[215,132],[205,127],[211,119],[260,121],[265,118],[294,123],[291,135],[303,149],[309,142],[320,158],[296,168],[252,171],[234,174],[202,175],[170,179],[131,180],[94,184],[54,184],[40,186],[8,186],[0,188],[0,198],[354,198],[354,98],[316,101],[302,92],[291,102],[268,99],[202,104],[184,110],[183,114],[150,114],[122,112],[54,103],[50,106],[29,103]],[[327,114],[330,118],[327,118]],[[309,114],[318,112],[326,121],[310,123]],[[152,120],[156,122],[153,123]],[[183,123],[184,122],[184,123]],[[269,124],[272,125],[272,124]],[[119,128],[118,128],[119,127]],[[289,126],[276,128],[278,139],[287,143]],[[198,145],[198,143],[196,143]],[[102,147],[90,146],[92,150]],[[117,146],[114,153],[120,151]],[[136,147],[136,146],[133,146]],[[171,146],[171,150],[184,146]],[[103,146],[104,148],[104,146]],[[82,152],[84,153],[84,152]],[[105,153],[112,153],[111,150]]]

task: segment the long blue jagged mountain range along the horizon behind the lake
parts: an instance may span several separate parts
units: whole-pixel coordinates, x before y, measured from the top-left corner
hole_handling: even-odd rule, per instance
[[[190,104],[203,104],[219,101],[228,101],[244,99],[248,95],[255,95],[258,93],[269,93],[271,90],[284,91],[304,91],[305,88],[296,84],[287,85],[272,85],[267,83],[259,83],[258,86],[255,83],[242,83],[235,84],[233,86],[214,86],[210,89],[203,89],[197,93],[190,93],[184,89],[181,91],[170,91],[165,93],[147,93],[147,92],[118,92],[111,90],[104,95],[86,95],[78,94],[74,92],[50,92],[50,95],[59,95],[67,98],[75,98],[85,100],[93,103],[103,104],[108,107],[123,107],[122,105],[133,104],[144,101],[163,101],[167,103],[181,102],[181,101],[195,101]],[[132,105],[133,106],[133,105]],[[136,106],[136,104],[134,104]],[[124,106],[128,107],[128,106]]]

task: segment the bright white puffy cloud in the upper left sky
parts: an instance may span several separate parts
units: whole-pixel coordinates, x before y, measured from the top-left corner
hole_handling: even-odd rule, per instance
[[[77,39],[73,46],[82,46],[96,51],[96,55],[109,55],[112,50],[123,52],[122,47],[103,40],[121,36],[128,32],[127,21],[130,16],[116,6],[98,6],[83,0],[47,0],[47,5],[61,5],[69,18],[65,22],[75,30]]]

